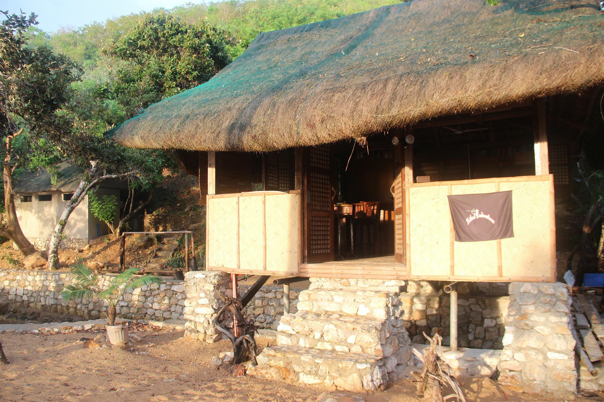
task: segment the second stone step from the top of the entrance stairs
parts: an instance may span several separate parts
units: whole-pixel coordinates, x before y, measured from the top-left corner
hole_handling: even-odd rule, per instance
[[[396,293],[380,290],[308,289],[298,300],[298,311],[316,314],[344,313],[385,320],[402,313]]]

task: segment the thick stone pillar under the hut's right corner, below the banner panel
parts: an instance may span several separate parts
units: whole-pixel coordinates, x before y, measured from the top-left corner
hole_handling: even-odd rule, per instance
[[[509,292],[500,383],[533,395],[574,397],[577,371],[568,286],[513,282]]]

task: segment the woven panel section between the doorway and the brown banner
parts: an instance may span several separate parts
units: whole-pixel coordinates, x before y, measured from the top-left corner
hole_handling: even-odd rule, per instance
[[[449,187],[411,187],[411,269],[415,275],[449,275]]]

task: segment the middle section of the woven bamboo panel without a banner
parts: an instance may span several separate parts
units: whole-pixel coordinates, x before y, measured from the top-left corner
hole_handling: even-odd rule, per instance
[[[262,197],[239,197],[239,253],[241,269],[263,270],[264,230]]]

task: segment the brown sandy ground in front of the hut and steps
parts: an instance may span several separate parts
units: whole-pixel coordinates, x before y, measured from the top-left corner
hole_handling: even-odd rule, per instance
[[[100,333],[99,330],[97,330]],[[208,345],[182,339],[182,331],[147,328],[131,351],[88,349],[79,339],[93,331],[69,334],[0,336],[10,365],[0,365],[2,401],[316,401],[324,390],[256,377],[231,377],[211,368],[212,356],[230,350],[222,341]],[[262,348],[269,338],[260,337]],[[102,344],[101,344],[102,345]],[[547,401],[503,391],[490,380],[461,379],[468,401]],[[504,395],[505,392],[505,395]],[[385,392],[359,396],[371,401],[419,401],[413,383],[399,380]],[[325,396],[323,395],[323,399]],[[602,395],[579,401],[602,400]],[[341,398],[341,401],[352,398]]]

